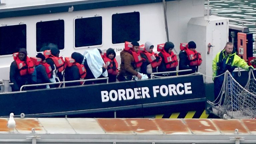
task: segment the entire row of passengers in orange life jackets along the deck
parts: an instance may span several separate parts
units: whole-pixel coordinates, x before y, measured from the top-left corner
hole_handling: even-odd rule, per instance
[[[182,47],[182,46],[181,46]],[[12,91],[20,90],[22,85],[43,84],[81,79],[95,79],[108,77],[109,82],[128,81],[134,76],[142,78],[142,74],[150,77],[153,72],[176,71],[178,66],[177,56],[173,53],[174,44],[166,42],[157,46],[159,54],[153,52],[154,45],[146,42],[139,45],[138,42],[125,42],[125,48],[120,53],[120,70],[116,61],[114,49],[107,49],[102,53],[100,49],[86,50],[84,55],[74,52],[71,57],[60,57],[60,50],[57,47],[49,47],[36,57],[28,57],[25,48],[14,53],[14,61],[10,66],[10,81]],[[183,74],[190,74],[197,71],[196,67],[202,62],[201,57],[195,51],[196,44],[191,41],[184,44],[180,51],[179,69],[192,69]],[[190,53],[189,53],[190,52]],[[192,54],[194,59],[189,59]],[[191,61],[198,61],[197,65],[191,65]],[[161,76],[173,76],[177,73],[167,73]],[[84,84],[102,83],[106,80],[86,81]],[[65,86],[81,85],[82,82],[65,83]],[[55,87],[55,85],[38,85],[33,88],[39,89]]]

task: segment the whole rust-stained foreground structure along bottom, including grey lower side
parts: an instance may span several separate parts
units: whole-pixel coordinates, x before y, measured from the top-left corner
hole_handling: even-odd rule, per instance
[[[0,118],[0,143],[256,143],[256,119]]]

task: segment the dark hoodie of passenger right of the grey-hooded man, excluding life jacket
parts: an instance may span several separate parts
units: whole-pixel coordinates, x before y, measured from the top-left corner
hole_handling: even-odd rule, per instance
[[[172,42],[166,42],[164,44],[164,50],[168,53],[170,48],[174,48],[174,44]],[[166,68],[166,64],[164,61],[164,56],[162,54],[162,52],[160,52],[158,54],[160,57],[162,57],[162,62],[160,64],[160,66],[157,67],[157,72],[168,72],[168,71],[176,71],[176,67],[175,68]],[[169,74],[162,74],[161,76],[175,76],[176,73],[169,73]]]

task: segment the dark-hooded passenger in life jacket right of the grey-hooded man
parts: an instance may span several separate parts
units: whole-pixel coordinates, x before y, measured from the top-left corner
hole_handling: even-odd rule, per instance
[[[158,46],[159,47],[159,46]],[[177,56],[173,53],[174,44],[166,42],[163,48],[158,48],[158,54],[162,58],[161,64],[157,67],[158,72],[176,71],[178,66]],[[162,76],[175,76],[176,73],[163,74]]]

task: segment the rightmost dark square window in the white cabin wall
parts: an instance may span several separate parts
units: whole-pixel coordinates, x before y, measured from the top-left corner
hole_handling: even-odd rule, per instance
[[[112,15],[112,43],[140,40],[140,13],[120,13]]]

